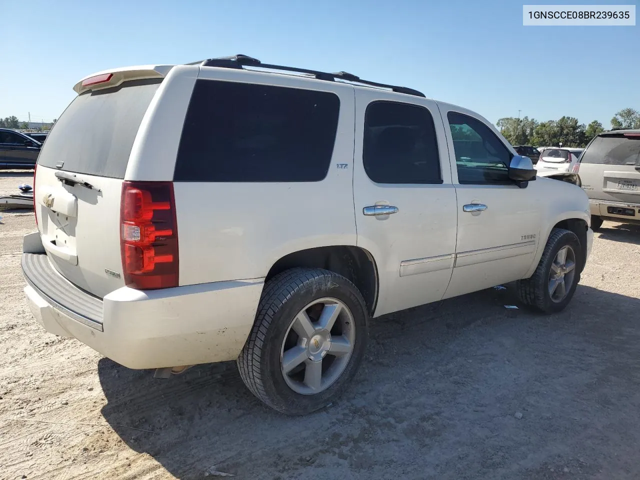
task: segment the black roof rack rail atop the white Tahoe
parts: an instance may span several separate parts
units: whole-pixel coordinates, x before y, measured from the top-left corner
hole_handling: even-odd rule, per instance
[[[388,88],[393,92],[406,93],[407,95],[414,95],[415,97],[426,97],[424,93],[413,88],[407,88],[404,86],[388,85],[385,83],[371,82],[363,80],[353,74],[347,72],[320,72],[319,70],[308,70],[307,68],[286,67],[285,65],[272,65],[271,63],[262,63],[257,58],[250,57],[248,55],[237,54],[228,57],[209,58],[207,60],[194,61],[187,63],[187,65],[200,65],[202,67],[219,67],[219,68],[244,68],[244,67],[257,67],[265,68],[267,70],[281,70],[284,72],[296,72],[301,74],[311,75],[318,80],[335,81],[341,80],[351,83],[358,83],[367,86],[373,86],[376,88]]]

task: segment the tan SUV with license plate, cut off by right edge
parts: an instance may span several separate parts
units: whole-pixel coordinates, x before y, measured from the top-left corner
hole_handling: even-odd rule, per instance
[[[580,157],[579,169],[593,230],[604,220],[640,225],[640,129],[596,136]]]

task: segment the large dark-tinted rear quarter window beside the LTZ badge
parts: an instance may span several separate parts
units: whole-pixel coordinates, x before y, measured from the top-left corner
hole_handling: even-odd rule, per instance
[[[189,102],[173,179],[323,180],[339,110],[334,93],[200,79]]]

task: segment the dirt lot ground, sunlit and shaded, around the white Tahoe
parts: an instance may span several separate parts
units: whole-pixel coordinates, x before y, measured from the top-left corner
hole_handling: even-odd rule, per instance
[[[605,222],[561,314],[507,310],[509,287],[375,319],[348,392],[289,418],[234,363],[154,380],[46,333],[22,293],[33,214],[0,215],[0,479],[640,478],[638,227]]]

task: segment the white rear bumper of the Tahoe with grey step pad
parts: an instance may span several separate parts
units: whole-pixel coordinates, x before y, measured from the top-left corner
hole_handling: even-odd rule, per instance
[[[61,277],[43,253],[23,253],[22,267],[29,308],[45,330],[74,337],[132,369],[234,360],[264,284],[260,278],[149,291],[122,287],[97,299]],[[66,282],[66,293],[47,291],[46,278]],[[83,296],[92,305],[82,305]]]

